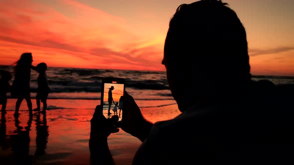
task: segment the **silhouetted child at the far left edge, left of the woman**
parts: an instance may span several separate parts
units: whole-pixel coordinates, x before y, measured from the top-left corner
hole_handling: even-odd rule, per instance
[[[7,95],[6,93],[10,91],[9,81],[11,80],[11,75],[8,71],[2,71],[0,79],[0,104],[2,104],[1,113],[6,113],[6,103]]]

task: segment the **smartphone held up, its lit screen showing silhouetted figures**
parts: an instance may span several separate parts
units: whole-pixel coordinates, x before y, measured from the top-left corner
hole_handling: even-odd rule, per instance
[[[103,106],[103,114],[111,117],[118,115],[119,120],[122,117],[122,101],[121,96],[126,90],[126,80],[123,78],[105,77],[102,79],[101,86],[101,103]]]

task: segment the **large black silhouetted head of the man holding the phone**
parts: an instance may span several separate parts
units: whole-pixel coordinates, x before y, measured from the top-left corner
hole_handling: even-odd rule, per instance
[[[169,23],[162,64],[178,104],[193,101],[185,98],[189,92],[199,101],[242,86],[251,80],[245,28],[221,0],[181,4]]]

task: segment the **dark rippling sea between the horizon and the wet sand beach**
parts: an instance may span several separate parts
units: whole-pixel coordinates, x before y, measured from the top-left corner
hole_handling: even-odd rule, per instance
[[[0,66],[0,70],[11,73],[14,79],[14,66]],[[48,68],[46,71],[51,89],[48,99],[88,99],[100,100],[103,77],[126,79],[126,90],[136,100],[173,100],[168,89],[165,72],[126,71],[81,68]],[[36,95],[38,73],[31,71],[31,97]],[[253,75],[253,80],[267,79],[273,83],[294,84],[294,77]],[[8,93],[8,98],[10,94]]]

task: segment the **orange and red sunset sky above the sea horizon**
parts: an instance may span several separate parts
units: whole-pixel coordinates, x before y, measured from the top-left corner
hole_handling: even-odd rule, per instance
[[[165,71],[170,17],[194,0],[0,0],[0,65]],[[254,75],[294,76],[294,0],[223,0],[247,31]]]

